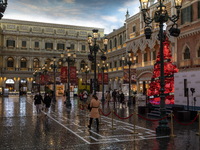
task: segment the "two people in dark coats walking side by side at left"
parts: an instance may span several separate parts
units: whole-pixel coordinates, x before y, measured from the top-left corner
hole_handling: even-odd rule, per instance
[[[40,115],[43,106],[45,113],[47,113],[51,106],[51,97],[46,93],[43,99],[42,95],[38,92],[34,97],[34,104],[36,106],[37,115]]]

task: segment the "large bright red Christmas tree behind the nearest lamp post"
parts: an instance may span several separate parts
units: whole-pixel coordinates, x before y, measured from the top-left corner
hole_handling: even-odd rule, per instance
[[[164,76],[165,76],[165,104],[174,104],[174,73],[178,72],[176,65],[171,61],[172,55],[169,49],[169,40],[166,37],[163,42]],[[148,100],[154,105],[160,104],[160,53],[154,64],[153,76],[148,89]]]

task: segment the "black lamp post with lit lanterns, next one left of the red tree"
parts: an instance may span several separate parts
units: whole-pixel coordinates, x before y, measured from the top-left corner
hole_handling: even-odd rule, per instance
[[[128,84],[128,105],[131,104],[131,65],[135,63],[136,57],[132,57],[131,51],[128,51],[127,57],[122,57],[122,61],[128,65],[128,76],[129,76],[129,84]]]

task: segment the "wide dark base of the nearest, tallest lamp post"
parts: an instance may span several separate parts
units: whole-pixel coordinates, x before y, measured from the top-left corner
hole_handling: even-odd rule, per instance
[[[171,129],[167,125],[167,120],[161,120],[156,128],[156,135],[170,135]]]

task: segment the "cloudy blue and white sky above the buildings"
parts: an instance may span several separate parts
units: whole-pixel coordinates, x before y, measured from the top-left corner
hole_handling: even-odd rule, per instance
[[[126,11],[139,12],[139,0],[8,0],[4,19],[100,27],[123,26]]]

